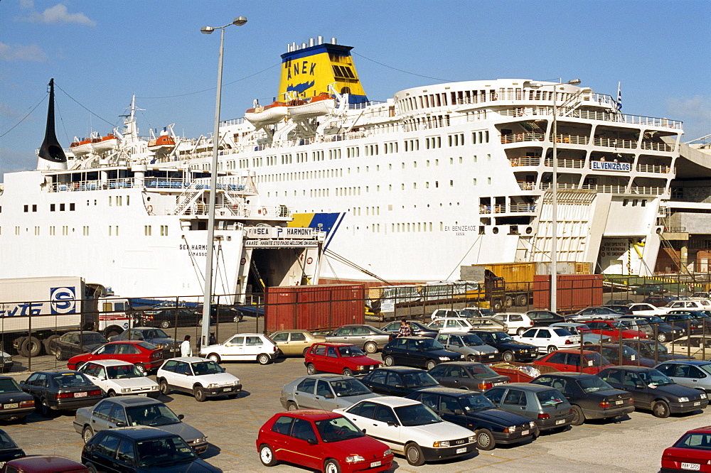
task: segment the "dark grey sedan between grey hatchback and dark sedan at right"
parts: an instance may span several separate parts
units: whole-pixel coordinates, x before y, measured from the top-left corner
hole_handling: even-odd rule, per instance
[[[563,393],[573,408],[572,425],[580,425],[586,419],[621,418],[634,411],[630,393],[613,388],[594,374],[542,374],[531,383]]]

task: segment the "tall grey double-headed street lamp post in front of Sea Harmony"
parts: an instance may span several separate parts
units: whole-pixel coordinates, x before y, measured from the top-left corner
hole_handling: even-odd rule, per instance
[[[203,298],[203,327],[201,332],[201,347],[209,344],[210,340],[210,308],[213,295],[213,241],[215,239],[215,202],[217,200],[218,185],[218,149],[220,147],[220,103],[222,102],[222,66],[223,52],[225,49],[225,28],[230,25],[242,26],[247,23],[247,18],[237,16],[232,23],[225,26],[203,26],[201,33],[209,35],[215,30],[220,30],[220,58],[218,59],[218,93],[215,101],[215,134],[213,134],[213,161],[210,166],[210,197],[208,207],[208,245],[205,254],[205,290]]]

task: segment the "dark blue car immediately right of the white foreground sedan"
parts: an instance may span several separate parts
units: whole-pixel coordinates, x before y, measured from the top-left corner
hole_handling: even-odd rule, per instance
[[[538,435],[533,420],[497,409],[481,393],[426,388],[405,397],[423,403],[443,420],[473,430],[479,450],[491,450],[497,443],[508,445],[533,440]]]

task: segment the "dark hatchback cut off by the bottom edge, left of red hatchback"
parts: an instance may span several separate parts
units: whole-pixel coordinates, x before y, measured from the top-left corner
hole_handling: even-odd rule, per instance
[[[221,472],[179,435],[141,425],[100,430],[82,449],[82,463],[100,472]]]

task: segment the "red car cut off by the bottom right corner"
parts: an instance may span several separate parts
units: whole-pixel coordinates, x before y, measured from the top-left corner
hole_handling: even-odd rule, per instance
[[[662,454],[663,472],[711,472],[711,425],[689,430]]]

